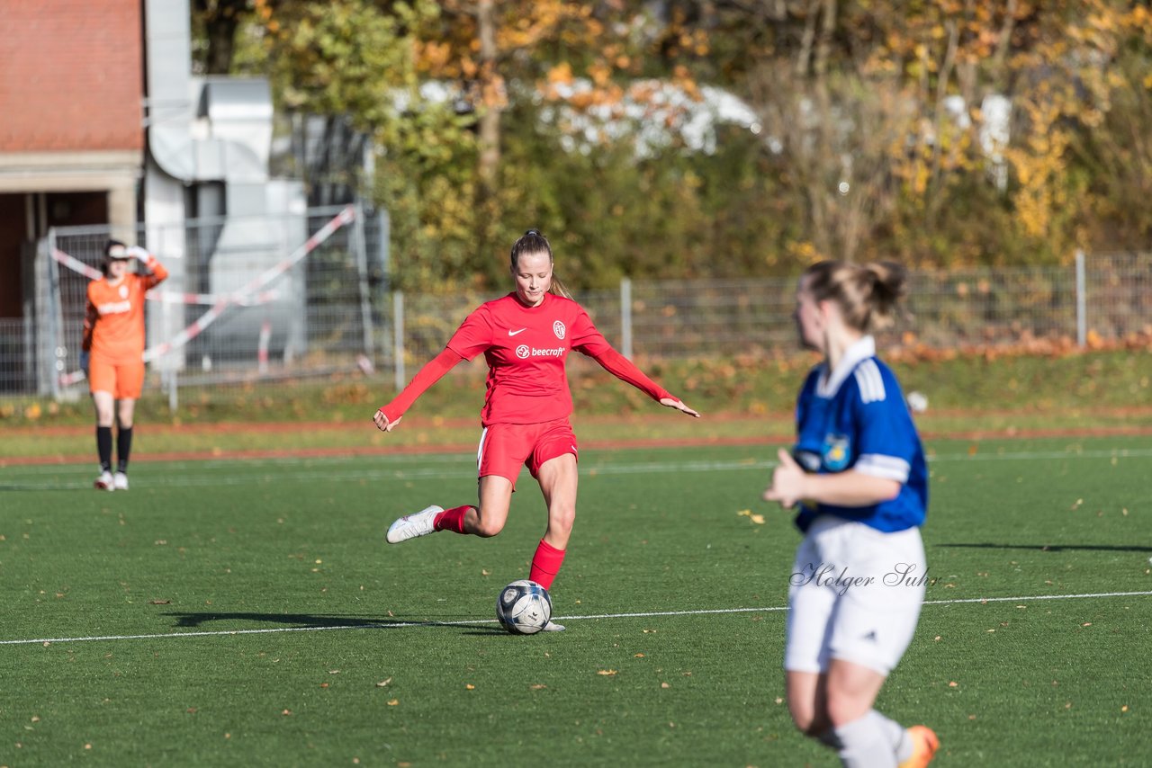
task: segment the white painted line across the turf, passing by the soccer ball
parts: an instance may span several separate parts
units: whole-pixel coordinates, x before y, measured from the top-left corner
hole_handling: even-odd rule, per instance
[[[1085,600],[1093,598],[1146,598],[1152,596],[1152,591],[1147,592],[1093,592],[1085,594],[1037,594],[1018,598],[965,598],[958,600],[925,600],[925,606],[958,606],[990,602],[1028,602],[1030,600]],[[629,614],[593,614],[589,616],[555,616],[558,621],[576,622],[589,618],[652,618],[657,616],[705,616],[715,614],[775,614],[788,610],[787,606],[772,606],[767,608],[710,608],[699,610],[655,610]],[[460,622],[396,622],[396,623],[364,623],[364,624],[341,624],[335,626],[280,626],[260,630],[217,630],[211,632],[167,632],[159,634],[104,634],[94,637],[73,638],[37,638],[28,640],[0,640],[0,645],[45,645],[53,642],[93,642],[99,640],[166,640],[172,638],[192,637],[226,637],[230,634],[280,634],[285,632],[325,632],[334,630],[396,630],[411,626],[463,626],[475,624],[495,624],[494,618],[476,618]]]

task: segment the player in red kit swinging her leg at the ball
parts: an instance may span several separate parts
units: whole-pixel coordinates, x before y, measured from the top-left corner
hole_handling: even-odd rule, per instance
[[[435,531],[494,537],[508,519],[516,478],[526,465],[548,508],[548,525],[529,572],[545,588],[560,571],[576,517],[577,443],[568,420],[573,411],[564,370],[568,352],[575,349],[661,405],[699,418],[612,348],[584,307],[561,295],[566,291],[552,268],[548,241],[538,230],[528,230],[511,248],[516,290],[469,314],[445,350],[373,417],[377,427],[392,432],[424,390],[461,360],[484,352],[488,377],[477,453],[479,503],[447,510],[433,504],[397,519],[387,539],[400,543]],[[545,628],[563,629],[555,622]]]

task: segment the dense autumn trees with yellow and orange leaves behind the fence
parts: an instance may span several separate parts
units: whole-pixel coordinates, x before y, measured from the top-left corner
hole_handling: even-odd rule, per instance
[[[533,225],[588,284],[1054,261],[1152,229],[1146,3],[250,1],[197,8],[252,20],[233,67],[257,41],[281,107],[371,134],[401,286],[492,284]],[[685,145],[668,96],[706,89],[759,134]]]

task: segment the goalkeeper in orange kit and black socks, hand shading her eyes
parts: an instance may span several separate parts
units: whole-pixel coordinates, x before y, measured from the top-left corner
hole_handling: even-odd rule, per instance
[[[132,417],[144,388],[144,294],[168,276],[143,248],[108,241],[104,249],[104,277],[88,284],[81,366],[88,375],[96,408],[96,450],[101,491],[128,491],[128,456],[132,446]],[[137,259],[143,274],[129,271]],[[112,474],[112,419],[115,415],[116,473]]]

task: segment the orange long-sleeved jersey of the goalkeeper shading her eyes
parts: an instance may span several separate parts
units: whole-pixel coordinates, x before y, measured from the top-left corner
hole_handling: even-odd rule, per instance
[[[144,353],[144,294],[168,276],[154,257],[151,274],[128,273],[115,286],[106,279],[88,284],[83,348],[106,360],[131,363]]]

